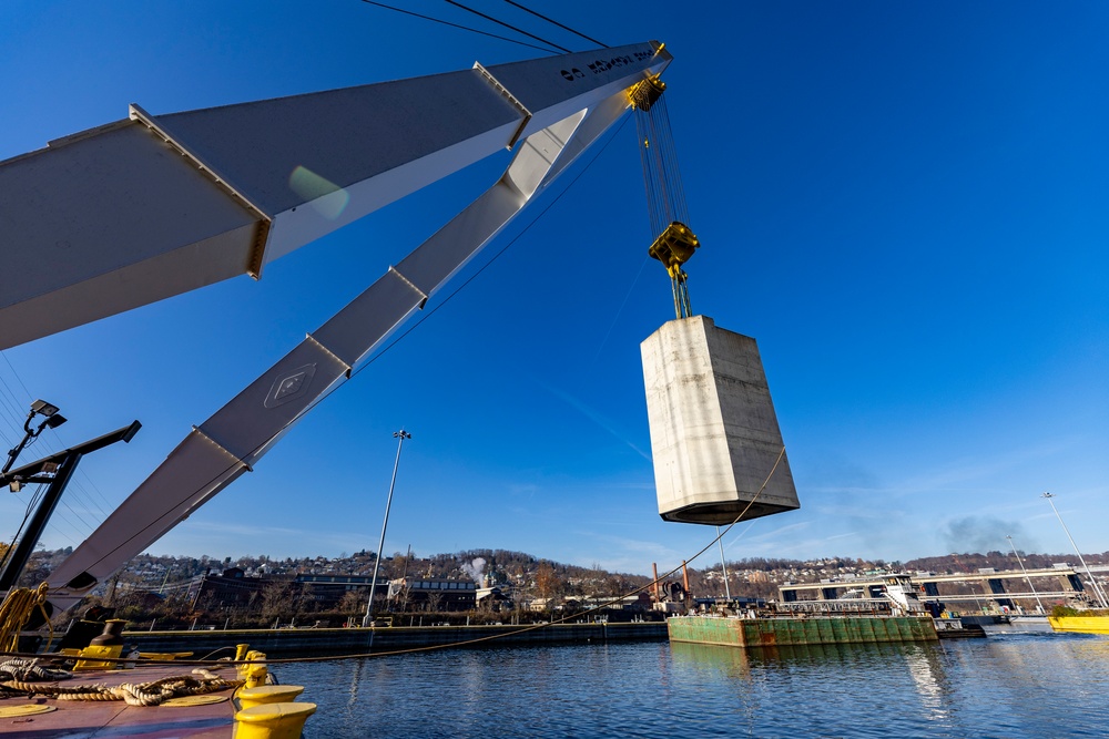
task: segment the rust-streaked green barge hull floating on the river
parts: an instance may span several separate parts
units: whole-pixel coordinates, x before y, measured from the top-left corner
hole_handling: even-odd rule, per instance
[[[673,616],[667,619],[667,629],[671,642],[729,647],[936,642],[939,638],[935,623],[927,616]]]

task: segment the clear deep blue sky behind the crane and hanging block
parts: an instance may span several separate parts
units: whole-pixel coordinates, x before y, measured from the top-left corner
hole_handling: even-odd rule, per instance
[[[500,0],[469,4],[591,45]],[[511,34],[446,2],[407,7]],[[1109,6],[536,8],[674,55],[665,94],[703,244],[688,265],[693,308],[759,340],[802,501],[734,528],[729,558],[907,560],[1005,550],[1006,534],[1069,552],[1046,490],[1085,551],[1109,550]],[[7,0],[0,29],[0,158],[125,117],[131,102],[156,115],[543,55],[358,0]],[[506,164],[306,246],[260,283],[4,351],[0,440],[14,443],[32,398],[70,419],[22,461],[143,422],[82,462],[43,543],[80,542],[192,424]],[[649,573],[709,542],[711,527],[658,516],[639,343],[673,312],[647,258],[633,123],[562,186],[579,175],[151,552],[375,550],[401,427],[413,440],[386,552],[495,547]],[[0,495],[0,536],[28,500]]]

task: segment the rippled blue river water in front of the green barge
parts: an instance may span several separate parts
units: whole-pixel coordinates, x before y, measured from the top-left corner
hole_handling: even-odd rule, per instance
[[[665,642],[275,667],[350,737],[1109,737],[1109,637],[771,650]]]

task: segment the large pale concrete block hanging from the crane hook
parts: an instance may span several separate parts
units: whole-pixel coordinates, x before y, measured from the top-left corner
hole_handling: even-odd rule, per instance
[[[693,316],[640,349],[665,521],[723,525],[801,506],[754,339]]]

